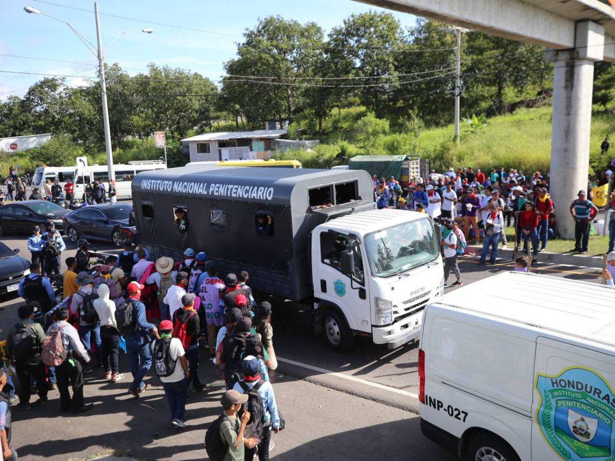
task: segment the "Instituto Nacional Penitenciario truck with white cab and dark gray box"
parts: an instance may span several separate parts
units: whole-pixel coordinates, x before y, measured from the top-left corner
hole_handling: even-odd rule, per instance
[[[355,334],[390,348],[415,339],[424,306],[443,292],[430,219],[375,210],[363,170],[192,165],[138,173],[132,194],[154,258],[195,248],[221,274],[247,270],[253,289],[310,304],[336,350]]]

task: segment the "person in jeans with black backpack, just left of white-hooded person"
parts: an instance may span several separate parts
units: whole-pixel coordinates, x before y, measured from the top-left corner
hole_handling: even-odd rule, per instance
[[[79,319],[79,336],[88,354],[92,353],[90,340],[93,334],[97,366],[101,366],[103,363],[103,341],[100,338],[100,318],[98,318],[98,313],[94,307],[94,301],[98,299],[98,294],[92,288],[93,281],[92,275],[84,270],[77,274],[75,283],[79,286],[79,290],[73,294],[71,299],[71,314]],[[86,367],[84,373],[89,372],[92,372],[92,368]]]

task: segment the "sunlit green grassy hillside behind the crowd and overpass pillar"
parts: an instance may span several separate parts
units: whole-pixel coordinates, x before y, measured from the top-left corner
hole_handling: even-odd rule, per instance
[[[352,157],[358,154],[419,154],[431,160],[438,170],[448,167],[510,167],[523,171],[549,170],[551,149],[551,108],[550,106],[533,109],[518,109],[512,114],[491,117],[479,128],[471,128],[468,122],[461,123],[461,142],[459,148],[453,143],[453,125],[442,128],[415,130],[408,134],[402,128],[389,130],[373,122],[363,133],[354,129],[365,126],[366,112],[353,111],[359,119],[352,120],[350,113],[342,111],[340,132],[325,137],[314,151],[287,151],[279,158],[296,158],[305,167],[330,168],[344,163],[339,154]],[[373,117],[373,116],[372,116]],[[378,119],[375,119],[378,120]],[[387,120],[378,120],[387,122]],[[363,125],[361,125],[363,123]],[[339,126],[338,125],[338,126]],[[590,145],[590,170],[600,170],[615,156],[612,152],[601,158],[600,143],[608,133],[615,132],[614,114],[595,114],[592,118]],[[365,133],[375,133],[373,136]],[[418,135],[418,136],[417,136]],[[318,137],[318,136],[316,136]],[[338,158],[336,158],[336,156]],[[608,157],[608,158],[606,158]]]

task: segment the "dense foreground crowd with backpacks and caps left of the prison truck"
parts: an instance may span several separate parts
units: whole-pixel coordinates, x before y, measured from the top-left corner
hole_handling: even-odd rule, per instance
[[[49,240],[52,234],[49,229],[44,235]],[[93,404],[84,398],[84,375],[97,369],[111,382],[130,372],[125,392],[138,399],[151,388],[146,375],[154,368],[169,404],[170,425],[184,428],[189,392],[207,388],[199,376],[204,353],[221,371],[226,388],[221,416],[208,430],[207,451],[223,452],[223,459],[247,460],[256,453],[269,459],[271,434],[284,428],[270,381],[277,368],[271,304],[256,301],[247,272],[222,276],[204,252],[192,248],[181,261],[162,256],[153,262],[131,242],[107,264],[90,267],[100,255],[81,239],[76,256],[65,259],[63,287],[54,293],[50,272],[36,257],[39,238],[35,228],[28,243],[30,274],[18,290],[25,304],[17,310],[20,320],[7,331],[0,368],[5,392],[0,393],[0,433],[6,431],[9,442],[10,404],[18,401],[18,411],[27,411],[34,394],[33,404],[46,405],[49,391],[57,388],[61,412],[87,412]],[[59,270],[60,256],[54,258],[53,269]],[[121,350],[129,369],[121,369]],[[5,448],[5,459],[12,459],[8,455],[14,451]]]

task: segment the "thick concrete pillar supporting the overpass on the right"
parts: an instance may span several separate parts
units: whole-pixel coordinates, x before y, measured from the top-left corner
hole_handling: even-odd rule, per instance
[[[574,238],[570,203],[587,189],[593,63],[603,59],[604,44],[603,26],[584,21],[576,24],[574,49],[546,52],[554,63],[549,183],[562,238]]]

